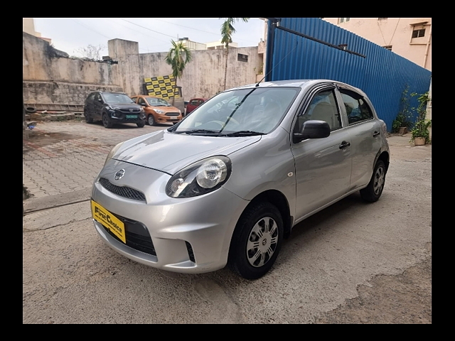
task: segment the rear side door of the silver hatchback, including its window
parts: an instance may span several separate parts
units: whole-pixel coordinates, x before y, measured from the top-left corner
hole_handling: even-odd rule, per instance
[[[353,171],[350,189],[366,185],[373,174],[375,158],[381,149],[380,121],[375,119],[368,99],[348,87],[338,87],[341,110],[346,114]]]

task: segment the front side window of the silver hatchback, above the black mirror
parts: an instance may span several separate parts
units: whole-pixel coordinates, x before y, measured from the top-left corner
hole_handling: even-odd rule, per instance
[[[333,90],[323,90],[318,92],[305,112],[297,117],[297,123],[294,126],[294,133],[300,131],[301,125],[311,119],[326,121],[330,130],[334,131],[341,128],[341,116],[336,105],[335,94]]]

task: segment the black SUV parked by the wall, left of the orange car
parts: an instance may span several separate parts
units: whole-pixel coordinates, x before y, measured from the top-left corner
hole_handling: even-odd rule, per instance
[[[106,128],[117,123],[135,123],[145,126],[144,108],[135,104],[123,92],[92,92],[85,99],[84,116],[87,123],[102,121]]]

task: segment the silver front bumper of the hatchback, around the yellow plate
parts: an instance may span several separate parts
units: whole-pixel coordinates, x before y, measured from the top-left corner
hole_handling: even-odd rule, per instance
[[[121,168],[125,171],[124,178],[114,180],[114,173]],[[112,188],[107,190],[100,183],[100,178],[118,187],[140,189],[145,200],[132,200],[114,194]],[[126,222],[127,244],[93,220],[95,229],[109,247],[141,264],[193,274],[223,268],[228,261],[235,224],[248,201],[224,188],[198,197],[168,197],[165,188],[170,178],[170,175],[160,171],[122,161],[109,161],[95,180],[92,200]],[[143,234],[141,238],[150,239],[149,247],[152,243],[154,252],[128,245],[129,227],[143,229],[139,231]],[[144,237],[146,235],[149,237]],[[137,237],[136,234],[134,236]]]

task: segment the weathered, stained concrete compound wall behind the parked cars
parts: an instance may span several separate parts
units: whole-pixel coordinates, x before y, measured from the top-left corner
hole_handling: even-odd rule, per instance
[[[142,94],[145,77],[171,75],[164,58],[167,53],[141,53],[134,41],[108,41],[109,56],[118,62],[94,62],[68,58],[66,53],[50,48],[40,38],[23,32],[23,99],[26,104],[83,104],[93,90],[124,91],[129,95]],[[223,91],[225,50],[195,50],[183,77],[177,81],[183,97],[212,97]],[[237,54],[248,61],[237,60]],[[256,82],[262,65],[257,46],[230,48],[226,87]]]

